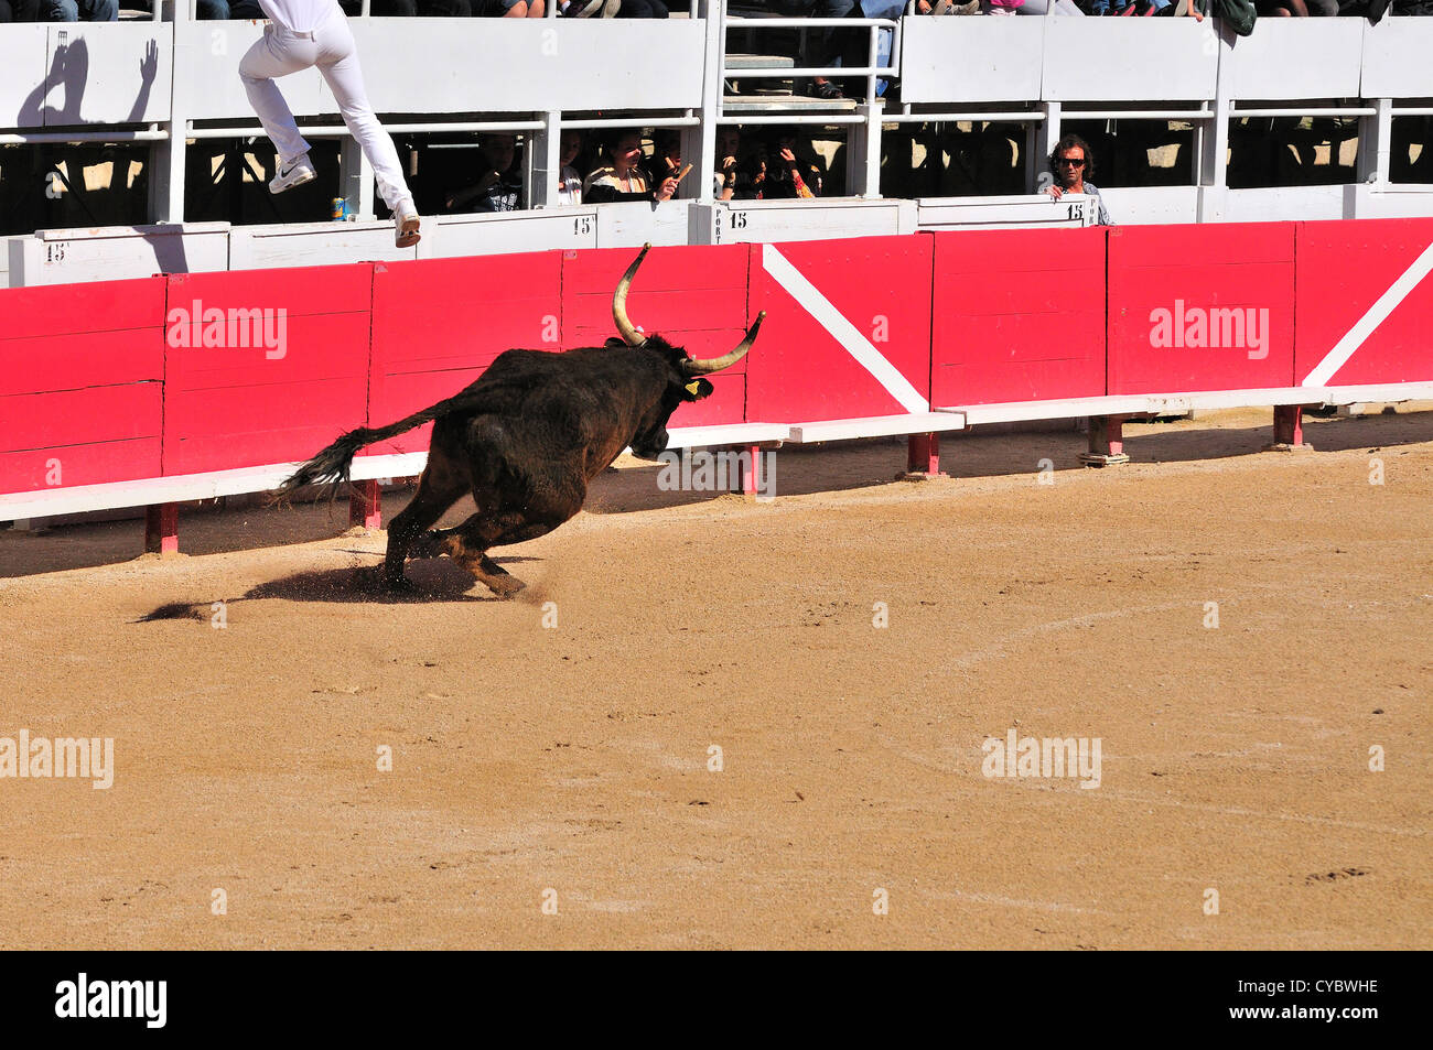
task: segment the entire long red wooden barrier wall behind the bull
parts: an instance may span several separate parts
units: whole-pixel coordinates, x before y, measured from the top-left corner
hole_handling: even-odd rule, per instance
[[[674,425],[857,420],[931,395],[1062,414],[1053,403],[1288,390],[1310,374],[1313,387],[1433,382],[1430,245],[1433,219],[656,248],[628,307],[699,357],[768,311],[755,350]],[[600,344],[633,255],[0,291],[0,491],[307,458],[450,397],[509,347]],[[1358,328],[1380,301],[1387,317]],[[426,443],[414,431],[370,454]]]

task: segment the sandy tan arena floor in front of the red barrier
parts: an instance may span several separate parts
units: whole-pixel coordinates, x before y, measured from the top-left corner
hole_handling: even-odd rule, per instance
[[[1433,411],[1268,421],[623,461],[513,602],[365,593],[345,504],[3,531],[0,738],[115,779],[0,779],[0,947],[1433,947]]]

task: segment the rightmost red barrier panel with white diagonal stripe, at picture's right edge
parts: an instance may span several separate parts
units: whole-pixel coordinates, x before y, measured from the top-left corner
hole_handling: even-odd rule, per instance
[[[1433,219],[1300,222],[1297,244],[1294,372],[1303,382],[1433,245]],[[1321,385],[1433,380],[1433,281],[1394,291],[1389,305],[1387,318],[1354,341],[1353,355]]]

